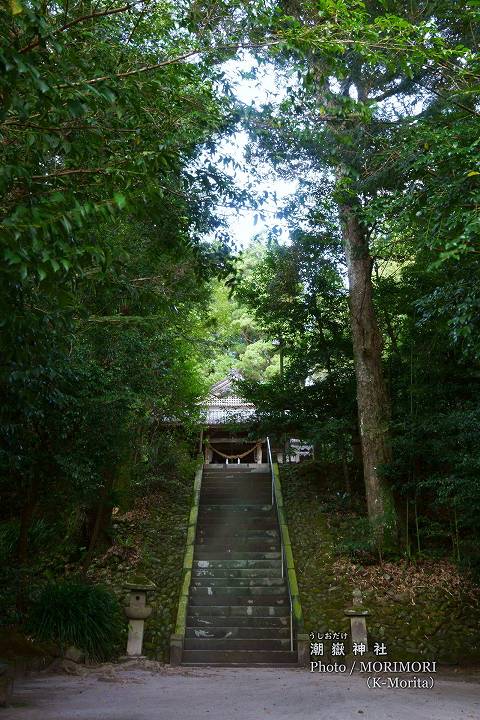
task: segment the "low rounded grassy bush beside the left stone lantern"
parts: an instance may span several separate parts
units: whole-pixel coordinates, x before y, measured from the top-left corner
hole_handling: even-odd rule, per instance
[[[44,588],[31,609],[28,625],[36,638],[57,643],[62,653],[73,645],[91,660],[100,661],[118,652],[125,623],[111,592],[69,580]]]

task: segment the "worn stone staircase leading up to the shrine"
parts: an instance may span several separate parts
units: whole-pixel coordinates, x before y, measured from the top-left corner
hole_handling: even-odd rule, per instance
[[[290,642],[269,466],[206,465],[182,664],[296,664]]]

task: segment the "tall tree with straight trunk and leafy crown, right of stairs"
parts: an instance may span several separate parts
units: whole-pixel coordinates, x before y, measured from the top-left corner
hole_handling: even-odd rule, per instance
[[[327,195],[327,203],[333,199],[337,206],[348,270],[366,495],[380,542],[383,536],[395,536],[395,510],[383,472],[391,459],[390,408],[372,284],[371,240],[379,232],[379,218],[369,214],[369,207],[391,178],[373,172],[373,158],[380,139],[392,124],[403,123],[415,103],[428,106],[445,83],[468,75],[467,65],[471,71],[472,53],[460,43],[466,16],[472,18],[475,11],[467,8],[455,22],[452,5],[279,3],[276,22],[287,46],[279,64],[293,63],[299,82],[289,83],[288,97],[278,108],[268,107],[251,123],[254,131],[266,130],[263,144],[287,173],[306,160],[311,186],[323,185],[317,197],[325,202]],[[436,22],[443,10],[449,24]],[[274,128],[276,136],[269,137]],[[297,163],[292,163],[292,148]],[[330,193],[324,192],[326,187]]]

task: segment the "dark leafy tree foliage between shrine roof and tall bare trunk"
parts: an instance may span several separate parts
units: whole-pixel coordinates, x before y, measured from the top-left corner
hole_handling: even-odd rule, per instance
[[[282,427],[324,446],[324,460],[331,459],[327,447],[336,459],[350,460],[356,409],[347,305],[329,255],[326,237],[298,232],[289,246],[272,241],[263,254],[246,256],[236,297],[255,315],[275,364],[245,372],[241,387],[257,407],[261,432]]]

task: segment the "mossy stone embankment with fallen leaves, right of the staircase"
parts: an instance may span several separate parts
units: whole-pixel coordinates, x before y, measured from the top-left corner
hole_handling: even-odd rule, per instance
[[[318,466],[284,466],[281,482],[307,632],[348,631],[344,610],[360,588],[370,647],[383,641],[391,659],[480,661],[480,591],[449,558],[359,560],[346,542],[359,515]]]

